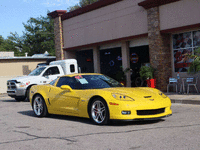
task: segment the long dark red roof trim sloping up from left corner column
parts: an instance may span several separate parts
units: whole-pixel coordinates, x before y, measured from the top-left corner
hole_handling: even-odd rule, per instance
[[[62,21],[63,21],[63,20],[66,20],[66,19],[69,19],[69,18],[72,18],[72,17],[76,17],[76,16],[79,16],[81,14],[93,11],[95,9],[102,8],[102,7],[107,6],[107,5],[117,3],[117,2],[120,2],[120,1],[122,1],[122,0],[100,0],[100,1],[97,1],[97,2],[92,3],[90,5],[87,5],[85,7],[82,7],[82,8],[76,9],[74,11],[65,13],[65,14],[62,15],[61,18],[62,18]]]

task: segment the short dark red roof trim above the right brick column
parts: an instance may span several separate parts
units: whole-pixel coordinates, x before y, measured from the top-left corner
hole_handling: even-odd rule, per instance
[[[138,5],[142,6],[145,9],[149,9],[149,8],[165,5],[168,3],[173,3],[176,1],[180,1],[180,0],[145,0],[143,2],[138,3]]]

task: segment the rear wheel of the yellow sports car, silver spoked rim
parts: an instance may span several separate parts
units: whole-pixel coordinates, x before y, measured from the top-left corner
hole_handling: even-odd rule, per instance
[[[37,117],[45,117],[48,115],[46,103],[41,95],[33,98],[33,112]]]

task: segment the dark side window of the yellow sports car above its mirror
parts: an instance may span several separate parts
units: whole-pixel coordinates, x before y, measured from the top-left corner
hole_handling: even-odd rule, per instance
[[[62,85],[69,85],[72,89],[76,89],[77,81],[74,77],[60,77],[57,87],[61,87]]]

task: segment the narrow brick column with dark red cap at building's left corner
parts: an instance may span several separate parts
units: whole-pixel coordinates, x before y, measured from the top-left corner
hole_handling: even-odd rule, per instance
[[[54,40],[55,40],[55,54],[56,60],[63,60],[63,26],[61,16],[65,14],[66,10],[56,10],[48,15],[54,18]]]

